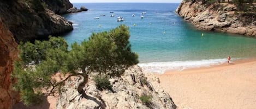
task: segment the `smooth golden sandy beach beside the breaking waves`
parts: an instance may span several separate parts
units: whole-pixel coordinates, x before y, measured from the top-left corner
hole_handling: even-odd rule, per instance
[[[256,108],[256,60],[155,74],[178,108]]]

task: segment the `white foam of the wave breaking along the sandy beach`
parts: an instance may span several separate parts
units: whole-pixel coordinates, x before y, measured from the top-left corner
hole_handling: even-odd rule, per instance
[[[236,59],[237,60],[237,59]],[[144,72],[164,73],[166,70],[184,70],[188,68],[209,67],[227,62],[227,59],[210,59],[199,61],[172,61],[172,62],[151,62],[139,63]]]

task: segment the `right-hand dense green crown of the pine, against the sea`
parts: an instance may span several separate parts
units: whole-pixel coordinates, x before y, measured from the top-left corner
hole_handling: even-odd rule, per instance
[[[93,33],[81,43],[72,44],[70,52],[79,59],[79,67],[93,72],[120,76],[129,66],[138,63],[138,55],[132,52],[129,43],[129,31],[125,25],[120,25],[109,32]]]

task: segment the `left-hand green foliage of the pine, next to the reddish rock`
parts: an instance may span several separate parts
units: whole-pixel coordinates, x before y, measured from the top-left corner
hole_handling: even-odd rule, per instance
[[[61,37],[50,37],[49,41],[27,42],[19,45],[21,61],[15,61],[13,78],[17,78],[14,88],[21,93],[26,105],[40,102],[39,93],[45,89],[52,93],[57,88],[51,76],[56,72],[67,73],[68,46]]]

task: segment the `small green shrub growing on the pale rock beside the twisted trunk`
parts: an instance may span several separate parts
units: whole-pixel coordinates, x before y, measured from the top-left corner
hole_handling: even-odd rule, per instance
[[[112,85],[110,84],[108,78],[95,76],[93,80],[96,83],[97,89],[100,91],[103,91],[104,89],[112,90]]]

